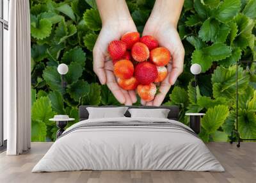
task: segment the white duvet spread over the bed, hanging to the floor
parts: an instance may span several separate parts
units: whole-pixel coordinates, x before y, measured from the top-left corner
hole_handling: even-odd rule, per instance
[[[163,118],[105,118],[93,122],[170,122]],[[65,134],[64,132],[64,134]],[[32,172],[72,170],[225,171],[204,142],[193,134],[168,127],[91,127],[57,139]]]

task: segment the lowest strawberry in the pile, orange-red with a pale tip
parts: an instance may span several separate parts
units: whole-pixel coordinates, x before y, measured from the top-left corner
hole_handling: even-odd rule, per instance
[[[137,87],[137,92],[141,99],[149,102],[153,100],[156,95],[156,85],[154,83],[146,85],[139,84]]]

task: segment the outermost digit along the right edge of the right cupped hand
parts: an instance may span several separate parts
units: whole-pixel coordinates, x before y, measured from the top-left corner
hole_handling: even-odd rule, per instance
[[[177,78],[183,72],[183,63],[184,63],[184,49],[180,49],[180,51],[176,51],[173,54],[172,61],[172,71],[170,72],[170,84],[174,84],[177,81]]]

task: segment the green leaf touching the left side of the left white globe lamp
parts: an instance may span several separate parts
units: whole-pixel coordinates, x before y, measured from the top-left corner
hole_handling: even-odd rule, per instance
[[[61,92],[61,77],[57,71],[57,67],[47,66],[43,72],[43,77],[52,90]]]

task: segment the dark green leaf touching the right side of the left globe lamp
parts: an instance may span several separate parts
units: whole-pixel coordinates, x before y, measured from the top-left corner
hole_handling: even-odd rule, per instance
[[[77,61],[72,61],[68,65],[68,73],[65,75],[65,80],[67,83],[75,83],[79,77],[82,76],[84,68],[81,67],[81,64]]]

